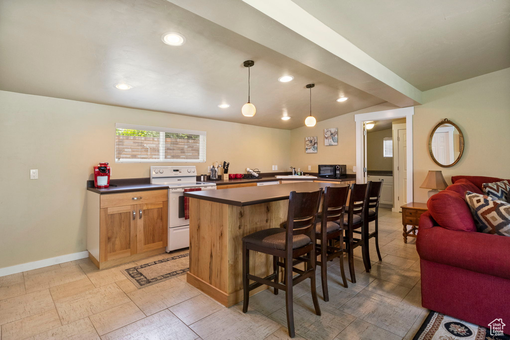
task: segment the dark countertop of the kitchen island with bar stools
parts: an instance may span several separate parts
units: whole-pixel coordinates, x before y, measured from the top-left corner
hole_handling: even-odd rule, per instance
[[[288,200],[291,191],[316,191],[326,186],[342,186],[330,183],[286,183],[279,185],[251,186],[223,190],[185,192],[184,195],[193,199],[244,207],[274,201]]]

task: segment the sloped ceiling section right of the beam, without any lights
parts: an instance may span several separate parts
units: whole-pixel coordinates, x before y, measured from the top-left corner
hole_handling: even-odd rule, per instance
[[[292,0],[426,91],[510,67],[508,0]]]

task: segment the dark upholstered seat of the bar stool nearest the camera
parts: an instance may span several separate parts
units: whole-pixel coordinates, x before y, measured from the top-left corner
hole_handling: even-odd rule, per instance
[[[259,230],[243,237],[243,242],[264,246],[273,249],[285,250],[286,231],[283,228],[271,228]],[[312,240],[307,235],[294,235],[292,249],[309,245]]]

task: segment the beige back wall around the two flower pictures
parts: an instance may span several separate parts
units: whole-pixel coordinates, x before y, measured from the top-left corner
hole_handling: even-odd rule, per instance
[[[317,122],[317,125],[314,127],[302,126],[291,130],[291,165],[296,169],[300,167],[306,174],[308,172],[308,165],[312,166],[310,172],[316,173],[319,164],[346,164],[347,173],[352,174],[352,167],[356,165],[356,124],[354,123],[354,115],[389,110],[395,107],[389,103],[375,105],[351,112],[350,114]],[[324,129],[327,128],[338,128],[338,145],[324,146]],[[307,154],[304,152],[304,137],[313,136],[318,137],[317,153]]]

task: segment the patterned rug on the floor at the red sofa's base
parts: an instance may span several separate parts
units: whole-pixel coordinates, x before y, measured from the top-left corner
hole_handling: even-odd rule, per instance
[[[497,321],[498,319],[494,320]],[[501,321],[501,319],[499,319]],[[504,331],[504,329],[503,329]],[[492,335],[491,329],[461,321],[431,310],[413,340],[510,340],[506,334]]]

